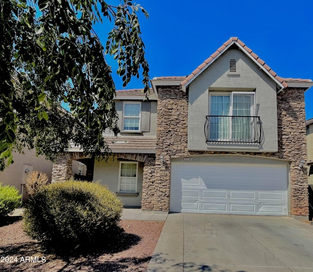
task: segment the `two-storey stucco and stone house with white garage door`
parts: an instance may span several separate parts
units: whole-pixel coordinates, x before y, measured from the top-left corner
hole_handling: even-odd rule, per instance
[[[192,68],[192,67],[191,67]],[[119,91],[114,157],[93,180],[125,206],[164,212],[308,216],[304,92],[312,80],[276,75],[230,38],[187,77],[158,77],[149,100]],[[60,155],[66,179],[80,148]]]

